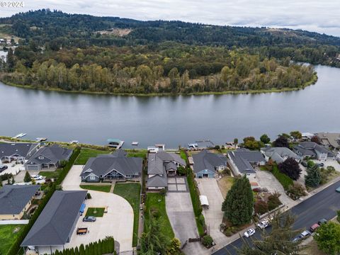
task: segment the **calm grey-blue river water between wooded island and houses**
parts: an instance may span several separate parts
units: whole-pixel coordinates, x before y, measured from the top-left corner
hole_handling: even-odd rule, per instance
[[[340,131],[340,69],[316,67],[319,81],[302,91],[221,96],[102,96],[34,91],[0,84],[0,135],[79,140],[108,138],[164,143],[167,148],[210,139],[281,132]]]

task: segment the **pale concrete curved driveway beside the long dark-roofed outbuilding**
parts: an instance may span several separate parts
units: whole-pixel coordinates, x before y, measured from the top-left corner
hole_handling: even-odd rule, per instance
[[[65,191],[81,190],[79,175],[82,167],[81,165],[72,166],[62,183],[62,188]],[[92,198],[85,200],[85,211],[88,208],[106,208],[108,206],[108,212],[104,213],[103,217],[97,217],[96,222],[82,222],[83,217],[79,217],[71,241],[65,245],[65,248],[89,244],[98,241],[98,239],[112,236],[115,241],[119,242],[120,251],[132,251],[133,210],[130,203],[113,193],[101,191],[89,191],[89,193]],[[77,227],[88,227],[89,233],[77,235]]]

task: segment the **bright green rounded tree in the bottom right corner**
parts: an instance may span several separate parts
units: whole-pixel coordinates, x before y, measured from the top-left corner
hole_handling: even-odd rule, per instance
[[[340,225],[335,222],[327,222],[317,228],[314,240],[319,249],[329,255],[340,254]]]

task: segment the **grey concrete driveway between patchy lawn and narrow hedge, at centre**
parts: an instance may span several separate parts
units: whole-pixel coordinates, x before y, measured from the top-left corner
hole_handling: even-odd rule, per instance
[[[190,193],[168,192],[165,197],[166,214],[169,217],[175,237],[181,240],[183,245],[189,238],[198,238],[193,205]],[[205,250],[200,242],[188,243],[184,248],[185,254],[202,254]]]

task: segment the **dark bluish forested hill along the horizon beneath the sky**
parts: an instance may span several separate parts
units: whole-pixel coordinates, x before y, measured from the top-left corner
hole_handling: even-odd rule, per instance
[[[228,47],[305,45],[340,46],[340,38],[304,30],[245,28],[236,26],[208,26],[181,21],[136,21],[128,18],[97,17],[68,14],[42,9],[18,13],[10,18],[1,18],[2,29],[10,30],[21,38],[36,38],[42,42],[58,39],[66,43],[80,43],[75,38],[88,38],[85,44],[131,45],[148,42],[176,41],[190,45],[225,45]],[[129,28],[131,33],[123,38],[98,36],[96,31],[111,28]],[[84,43],[84,42],[82,42]]]

